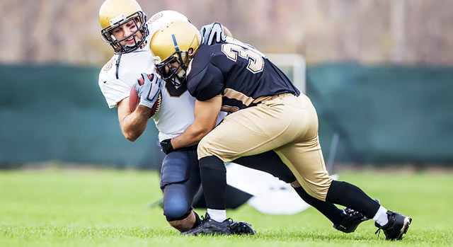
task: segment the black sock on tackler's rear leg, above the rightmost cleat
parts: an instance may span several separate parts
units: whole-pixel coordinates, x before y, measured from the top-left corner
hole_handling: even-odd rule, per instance
[[[346,182],[333,180],[328,189],[326,202],[331,202],[357,212],[361,212],[366,217],[372,219],[376,215],[380,205],[371,199],[363,190],[355,185]]]

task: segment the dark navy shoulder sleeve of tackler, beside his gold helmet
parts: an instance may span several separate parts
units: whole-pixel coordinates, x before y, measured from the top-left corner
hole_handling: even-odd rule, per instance
[[[212,63],[208,63],[200,72],[188,76],[189,93],[197,100],[210,100],[222,93],[223,88],[222,71]]]

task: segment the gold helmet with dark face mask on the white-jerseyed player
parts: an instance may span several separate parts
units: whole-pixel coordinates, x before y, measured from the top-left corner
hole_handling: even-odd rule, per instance
[[[137,30],[122,40],[116,40],[111,31],[129,21],[134,21]],[[105,0],[99,9],[99,23],[104,42],[108,42],[117,53],[137,50],[148,35],[147,16],[135,0]],[[142,33],[141,40],[136,39],[137,32]],[[134,38],[133,46],[121,45],[122,41],[130,39],[131,36]]]

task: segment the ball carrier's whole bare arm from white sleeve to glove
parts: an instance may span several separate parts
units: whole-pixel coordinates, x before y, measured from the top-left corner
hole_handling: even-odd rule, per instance
[[[144,132],[147,127],[151,108],[138,105],[134,112],[130,111],[129,97],[118,103],[118,120],[122,134],[130,142],[134,142]]]

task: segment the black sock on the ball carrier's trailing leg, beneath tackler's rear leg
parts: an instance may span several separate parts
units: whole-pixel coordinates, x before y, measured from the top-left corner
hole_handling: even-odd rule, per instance
[[[316,199],[315,197],[312,197],[311,195],[306,193],[302,186],[294,188],[294,190],[296,190],[297,194],[302,198],[302,200],[318,209],[318,211],[321,212],[321,214],[324,214],[327,219],[330,219],[333,224],[341,224],[342,210],[333,205],[333,203],[323,202]]]

